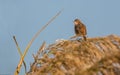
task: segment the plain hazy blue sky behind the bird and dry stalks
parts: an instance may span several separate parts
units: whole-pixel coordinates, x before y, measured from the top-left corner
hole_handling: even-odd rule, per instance
[[[49,45],[74,35],[76,18],[87,26],[88,37],[120,35],[120,0],[0,0],[0,74],[13,75],[20,59],[12,36],[24,51],[35,33],[63,8],[30,47],[25,57],[28,70],[43,41]]]

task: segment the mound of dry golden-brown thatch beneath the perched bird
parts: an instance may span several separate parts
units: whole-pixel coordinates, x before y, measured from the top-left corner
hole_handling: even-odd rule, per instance
[[[27,75],[120,75],[120,37],[45,42]]]

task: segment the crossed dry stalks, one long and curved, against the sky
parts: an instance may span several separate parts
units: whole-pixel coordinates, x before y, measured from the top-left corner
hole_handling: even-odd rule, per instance
[[[25,58],[25,56],[26,56],[26,54],[27,54],[30,46],[32,45],[32,43],[34,42],[34,40],[38,37],[38,35],[39,35],[53,20],[55,20],[55,19],[61,14],[62,11],[63,11],[63,9],[62,9],[61,11],[59,11],[55,16],[53,16],[53,17],[50,19],[50,21],[48,21],[48,22],[33,36],[33,38],[30,40],[30,42],[29,42],[28,45],[26,46],[26,48],[25,48],[25,50],[24,50],[24,53],[21,52],[21,49],[20,49],[20,47],[19,47],[19,45],[18,45],[18,43],[17,43],[17,40],[16,40],[15,36],[13,36],[13,39],[14,39],[15,44],[16,44],[16,47],[17,47],[18,52],[19,52],[19,54],[20,54],[20,56],[21,56],[21,57],[20,57],[20,61],[19,61],[18,65],[17,65],[17,67],[16,67],[16,69],[15,69],[14,75],[19,75],[19,72],[20,72],[21,67],[22,67],[22,63],[24,64],[25,72],[26,72],[26,63],[25,63],[25,61],[24,61],[24,58]]]

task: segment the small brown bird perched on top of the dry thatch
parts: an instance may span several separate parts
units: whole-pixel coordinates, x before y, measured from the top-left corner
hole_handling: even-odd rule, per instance
[[[86,35],[87,35],[86,26],[79,19],[74,20],[74,25],[75,25],[74,30],[75,30],[76,35],[72,38],[82,36],[83,39],[86,41],[87,40],[87,38],[86,38]]]

